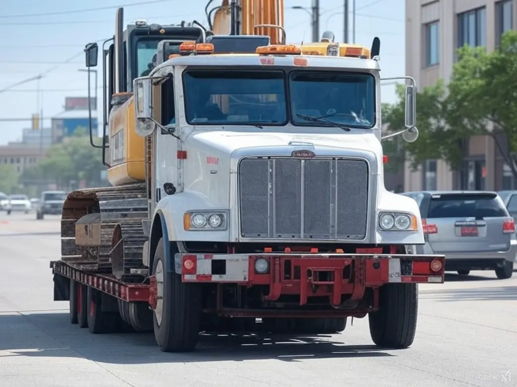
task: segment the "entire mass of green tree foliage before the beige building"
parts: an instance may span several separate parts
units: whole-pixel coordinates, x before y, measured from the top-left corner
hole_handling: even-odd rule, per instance
[[[485,47],[458,50],[447,86],[438,82],[417,93],[419,139],[405,144],[413,165],[443,158],[453,169],[462,166],[462,140],[491,136],[517,177],[517,31],[507,31],[492,53]],[[387,109],[391,130],[403,127],[404,90],[399,102]]]

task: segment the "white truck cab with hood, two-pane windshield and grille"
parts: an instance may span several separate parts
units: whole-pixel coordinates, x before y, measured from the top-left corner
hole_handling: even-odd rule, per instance
[[[154,131],[146,115],[163,127],[152,134],[151,202],[173,224],[193,216],[169,238],[423,243],[415,201],[384,188],[378,62],[290,54],[200,52],[156,68],[160,91],[135,80],[136,132]]]

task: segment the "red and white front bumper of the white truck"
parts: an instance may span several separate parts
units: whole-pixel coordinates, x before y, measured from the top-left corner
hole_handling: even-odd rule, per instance
[[[299,295],[303,305],[329,296],[334,306],[342,295],[361,300],[366,288],[387,283],[443,283],[445,266],[444,255],[177,254],[176,260],[184,282],[269,285],[268,301]]]

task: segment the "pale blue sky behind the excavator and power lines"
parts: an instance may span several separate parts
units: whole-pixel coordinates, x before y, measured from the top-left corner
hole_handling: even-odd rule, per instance
[[[38,106],[44,117],[52,117],[63,111],[66,96],[86,96],[86,73],[78,71],[84,68],[84,45],[113,36],[118,6],[125,6],[125,24],[135,19],[160,24],[194,19],[206,23],[207,0],[170,0],[130,6],[145,1],[3,0],[0,9],[0,90],[40,73],[47,75],[39,81],[39,104],[36,81],[0,92],[0,119],[30,118],[38,111]],[[350,11],[352,2],[349,0]],[[185,7],[186,3],[189,8]],[[310,7],[311,0],[284,0],[284,3],[287,41],[310,40],[309,13],[290,8]],[[330,29],[337,41],[343,41],[343,0],[321,0],[320,3],[320,35]],[[84,11],[99,7],[107,9]],[[51,12],[67,13],[43,15]],[[356,43],[370,47],[375,36],[381,39],[383,77],[405,75],[404,19],[402,0],[356,0]],[[352,39],[352,17],[350,20],[349,38]],[[99,85],[100,79],[99,74]],[[394,101],[393,86],[383,86],[382,99],[383,102]],[[99,122],[101,120],[99,117]],[[45,126],[48,125],[50,120],[45,121]],[[0,121],[0,144],[20,139],[22,129],[29,126],[30,121]]]

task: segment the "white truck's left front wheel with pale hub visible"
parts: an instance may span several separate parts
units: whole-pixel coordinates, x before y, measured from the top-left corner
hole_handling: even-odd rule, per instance
[[[201,287],[181,282],[180,275],[165,271],[163,238],[158,241],[153,261],[158,294],[153,326],[163,352],[190,352],[197,345],[201,320]]]

